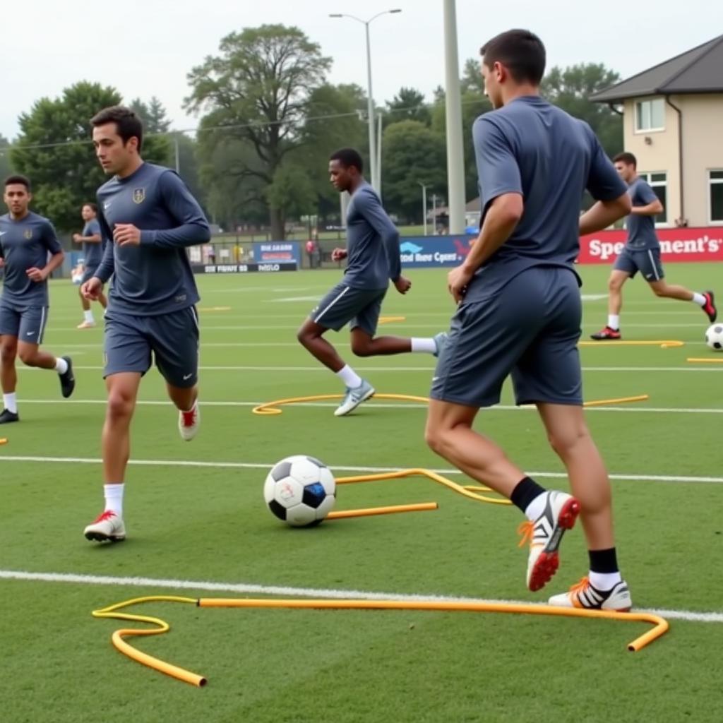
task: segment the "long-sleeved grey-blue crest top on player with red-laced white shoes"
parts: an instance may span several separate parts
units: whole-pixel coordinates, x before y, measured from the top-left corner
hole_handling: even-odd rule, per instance
[[[175,171],[143,163],[131,176],[107,181],[98,189],[98,220],[107,244],[95,276],[106,282],[114,275],[114,312],[161,315],[198,301],[186,248],[205,244],[210,230]],[[140,245],[116,244],[117,223],[140,228]]]

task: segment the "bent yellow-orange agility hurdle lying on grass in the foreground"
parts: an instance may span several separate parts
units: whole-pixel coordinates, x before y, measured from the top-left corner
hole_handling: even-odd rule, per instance
[[[195,604],[197,607],[241,607],[241,608],[284,608],[284,609],[312,609],[312,610],[419,610],[429,612],[506,612],[524,615],[554,615],[561,617],[589,617],[603,620],[620,620],[627,623],[651,623],[652,630],[643,633],[632,642],[628,643],[629,651],[638,651],[653,642],[667,632],[669,625],[667,620],[659,615],[647,612],[611,612],[607,610],[586,610],[567,607],[550,607],[549,605],[534,605],[521,603],[493,603],[493,602],[437,602],[437,601],[409,601],[398,600],[294,600],[294,599],[223,599],[223,598],[201,598],[176,597],[170,595],[154,595],[138,597],[132,600],[119,602],[99,610],[94,610],[93,617],[113,620],[128,620],[134,623],[148,623],[155,625],[152,629],[121,628],[111,636],[114,647],[130,659],[139,662],[147,667],[165,673],[176,680],[195,685],[197,688],[208,683],[203,675],[198,675],[190,670],[178,667],[165,662],[160,658],[143,653],[127,643],[124,638],[134,636],[162,635],[171,629],[171,626],[160,617],[148,615],[132,615],[128,612],[119,612],[125,607],[142,604],[145,602],[181,602]]]

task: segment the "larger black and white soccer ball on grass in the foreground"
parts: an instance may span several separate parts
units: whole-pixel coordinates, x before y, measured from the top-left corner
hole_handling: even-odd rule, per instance
[[[271,512],[292,527],[319,524],[336,501],[336,482],[323,462],[293,455],[275,463],[264,483]]]

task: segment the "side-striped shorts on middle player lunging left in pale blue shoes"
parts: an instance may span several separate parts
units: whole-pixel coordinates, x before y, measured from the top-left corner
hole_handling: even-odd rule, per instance
[[[374,336],[386,294],[385,288],[354,288],[338,283],[319,302],[309,318],[326,329],[338,331],[348,323],[349,328],[359,327]]]

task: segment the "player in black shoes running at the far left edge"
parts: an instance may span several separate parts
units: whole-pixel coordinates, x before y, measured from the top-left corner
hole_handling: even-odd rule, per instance
[[[63,262],[63,249],[53,224],[33,213],[30,181],[25,176],[6,179],[4,201],[9,213],[0,216],[0,266],[5,277],[0,299],[0,382],[3,411],[0,424],[20,422],[17,412],[15,357],[27,367],[54,369],[68,398],[75,388],[69,356],[40,351],[48,320],[48,276]]]

